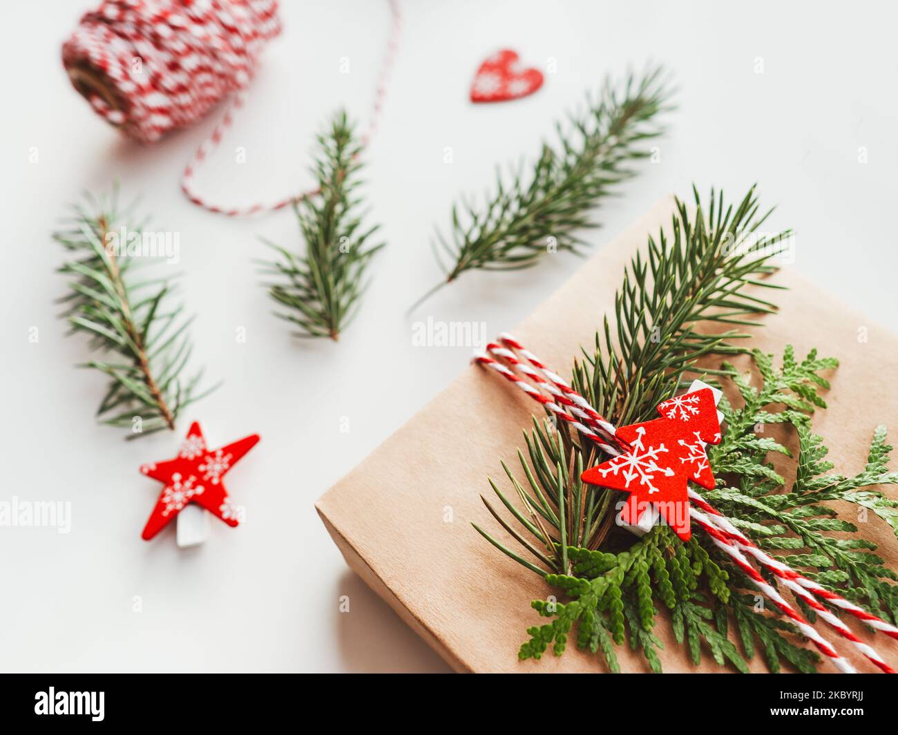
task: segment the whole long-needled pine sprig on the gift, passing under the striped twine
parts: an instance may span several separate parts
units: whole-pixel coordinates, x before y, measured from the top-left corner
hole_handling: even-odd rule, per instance
[[[670,235],[662,231],[649,238],[647,259],[638,253],[625,270],[615,297],[616,329],[606,318],[595,349],[574,366],[577,391],[621,426],[653,418],[656,405],[674,394],[701,357],[745,351],[736,344],[744,332],[701,334],[695,323],[751,323],[749,315],[774,309],[770,301],[746,291],[750,286],[779,288],[759,279],[775,270],[770,261],[788,246],[790,231],[761,232],[770,212],[760,213],[753,188],[738,205],[726,208],[723,196],[713,190],[707,208],[698,192],[693,194],[694,215],[678,200]],[[533,473],[526,470],[532,497],[525,508],[529,504],[543,522],[557,527],[552,508],[559,500],[555,488],[563,483],[575,511],[567,514],[568,539],[598,548],[613,530],[616,495],[586,488],[579,475],[601,459],[576,434],[559,432],[554,424],[543,429],[534,423],[525,441],[533,465]],[[526,464],[523,456],[521,462]],[[511,474],[507,467],[505,471]],[[515,490],[519,496],[524,492],[519,485]],[[489,503],[488,508],[497,515]],[[581,512],[575,529],[572,519]],[[555,571],[562,571],[558,563],[553,562]]]

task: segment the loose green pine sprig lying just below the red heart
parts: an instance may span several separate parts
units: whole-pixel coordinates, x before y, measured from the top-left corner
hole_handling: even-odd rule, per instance
[[[577,252],[585,244],[578,233],[597,226],[590,210],[636,173],[629,164],[650,155],[646,141],[663,132],[657,117],[670,93],[661,67],[622,84],[606,79],[585,111],[557,123],[557,143],[544,143],[531,167],[497,171],[482,205],[462,197],[451,234],[437,231],[433,243],[445,279],[411,308],[468,270],[519,270],[546,252]]]

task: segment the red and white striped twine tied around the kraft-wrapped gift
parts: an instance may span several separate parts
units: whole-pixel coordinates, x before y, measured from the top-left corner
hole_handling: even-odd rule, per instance
[[[495,370],[506,380],[517,385],[525,394],[545,406],[559,420],[565,421],[586,438],[594,441],[604,452],[612,456],[619,456],[627,451],[627,445],[616,436],[617,429],[614,425],[605,420],[581,394],[578,394],[564,379],[547,368],[533,352],[527,350],[510,334],[501,334],[498,343],[490,342],[486,347],[486,352],[476,355],[474,362]],[[528,382],[528,378],[533,381],[533,384]],[[808,607],[813,608],[826,624],[829,624],[836,633],[839,633],[842,638],[863,653],[867,660],[886,673],[894,673],[894,669],[872,646],[861,641],[820,600],[845,610],[874,630],[885,633],[894,639],[898,639],[898,627],[868,613],[841,595],[823,588],[814,580],[809,580],[792,569],[788,564],[764,552],[693,488],[689,490],[689,497],[691,500],[690,518],[696,525],[710,536],[711,541],[723,553],[726,553],[740,570],[744,571],[754,586],[770,598],[770,601],[796,625],[801,633],[814,642],[824,656],[832,660],[837,669],[844,673],[855,673],[855,669],[841,657],[832,643],[827,641],[794,606],[783,598],[778,589],[764,580],[761,573],[745,558],[745,553],[752,556],[764,569],[781,580],[783,585]]]

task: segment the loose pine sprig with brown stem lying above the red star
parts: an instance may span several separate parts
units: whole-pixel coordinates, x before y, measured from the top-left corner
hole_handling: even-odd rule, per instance
[[[202,371],[183,375],[191,320],[170,303],[171,277],[138,277],[153,259],[131,257],[128,247],[140,241],[145,223],[119,209],[118,194],[115,187],[109,195],[87,195],[54,239],[72,256],[59,269],[69,278],[70,293],[60,299],[64,315],[103,356],[83,367],[110,376],[97,416],[136,438],[174,429],[180,412],[209,391],[197,393]]]

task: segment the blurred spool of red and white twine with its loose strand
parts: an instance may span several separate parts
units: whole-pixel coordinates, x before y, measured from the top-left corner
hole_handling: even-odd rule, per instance
[[[401,13],[389,0],[391,31],[362,136],[374,136],[398,49]],[[285,208],[318,193],[307,190],[270,203],[216,204],[198,192],[194,174],[233,125],[261,53],[281,31],[277,0],[103,0],[86,13],[62,49],[75,89],[94,111],[128,137],[153,143],[192,125],[228,95],[222,120],[194,152],[180,188],[198,207],[227,217]]]

